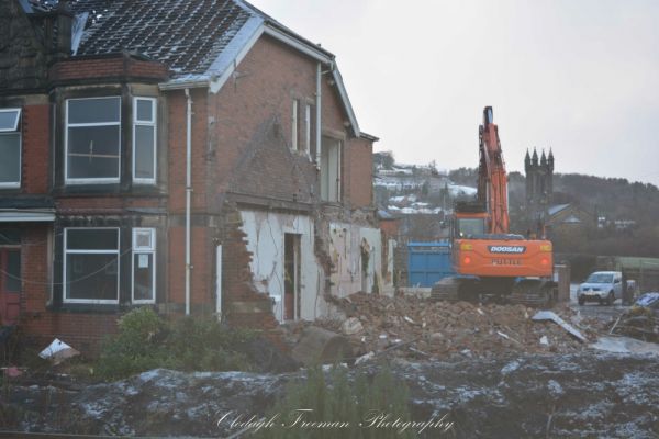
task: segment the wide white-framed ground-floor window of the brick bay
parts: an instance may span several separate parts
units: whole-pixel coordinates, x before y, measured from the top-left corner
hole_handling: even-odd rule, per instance
[[[119,229],[64,230],[64,302],[119,303]]]

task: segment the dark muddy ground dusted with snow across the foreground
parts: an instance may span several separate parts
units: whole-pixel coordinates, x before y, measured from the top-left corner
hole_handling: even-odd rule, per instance
[[[366,367],[372,373],[378,364]],[[610,437],[659,435],[659,360],[601,354],[507,356],[499,359],[390,365],[410,387],[413,420],[453,423],[446,437]],[[351,372],[353,373],[353,372]],[[260,415],[284,384],[304,372],[145,372],[111,384],[49,385],[16,381],[3,397],[4,429],[67,434],[226,437],[226,413]],[[232,415],[233,416],[233,415]],[[424,437],[439,437],[428,429]]]

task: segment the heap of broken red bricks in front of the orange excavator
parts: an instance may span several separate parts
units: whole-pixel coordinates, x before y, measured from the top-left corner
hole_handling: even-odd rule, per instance
[[[336,305],[346,319],[319,320],[315,325],[348,337],[356,357],[386,352],[388,357],[417,359],[454,354],[488,358],[505,352],[568,353],[583,349],[583,344],[562,327],[533,322],[537,309],[524,305],[429,302],[365,293],[342,299]],[[567,306],[554,311],[566,320],[574,314]],[[595,338],[589,329],[583,334]]]

